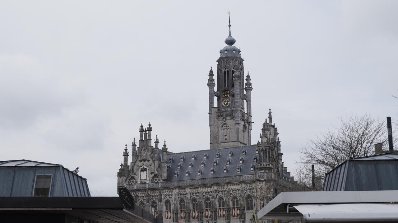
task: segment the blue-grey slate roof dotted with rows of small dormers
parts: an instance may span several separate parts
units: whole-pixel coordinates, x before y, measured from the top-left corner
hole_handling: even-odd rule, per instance
[[[258,160],[258,155],[256,154],[257,145],[241,146],[235,148],[225,148],[219,150],[199,150],[193,152],[182,152],[168,154],[168,165],[169,170],[167,173],[168,181],[181,181],[181,180],[191,180],[191,179],[203,179],[209,177],[228,177],[236,175],[249,175],[257,173],[256,163],[253,163],[253,158],[256,157]],[[246,154],[242,156],[242,151],[246,150]],[[229,152],[232,152],[232,157],[229,157]],[[219,153],[219,158],[216,158],[217,153]],[[206,159],[204,155],[207,154]],[[181,162],[181,156],[183,161]],[[194,161],[192,161],[192,156],[194,156]],[[170,163],[170,158],[172,158],[172,163]],[[243,163],[240,164],[239,160],[243,158]],[[226,161],[230,160],[230,164],[226,165]],[[203,168],[201,168],[201,163],[205,162]],[[217,165],[214,167],[214,161]],[[189,169],[189,163],[192,163],[191,169]],[[181,168],[178,169],[178,165]],[[250,167],[254,165],[254,170],[251,171]],[[237,172],[238,166],[241,167],[240,173]],[[224,174],[224,168],[227,168],[226,174]],[[201,170],[201,176],[198,176],[198,171]],[[213,175],[210,174],[211,169],[214,170]],[[185,176],[186,171],[189,171],[188,177]],[[174,178],[174,173],[178,172],[177,178]]]

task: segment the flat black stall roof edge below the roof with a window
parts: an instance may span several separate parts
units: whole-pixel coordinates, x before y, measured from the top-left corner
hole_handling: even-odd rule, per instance
[[[68,214],[98,223],[156,223],[135,205],[127,210],[119,197],[0,197],[0,215]]]

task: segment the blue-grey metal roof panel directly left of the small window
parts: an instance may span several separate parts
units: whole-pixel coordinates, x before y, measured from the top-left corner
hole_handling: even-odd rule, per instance
[[[32,196],[35,182],[34,170],[31,167],[15,167],[11,196]]]

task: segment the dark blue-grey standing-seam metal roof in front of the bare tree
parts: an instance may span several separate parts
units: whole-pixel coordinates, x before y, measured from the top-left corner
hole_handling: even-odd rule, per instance
[[[326,173],[322,191],[398,190],[398,154],[351,158]]]

